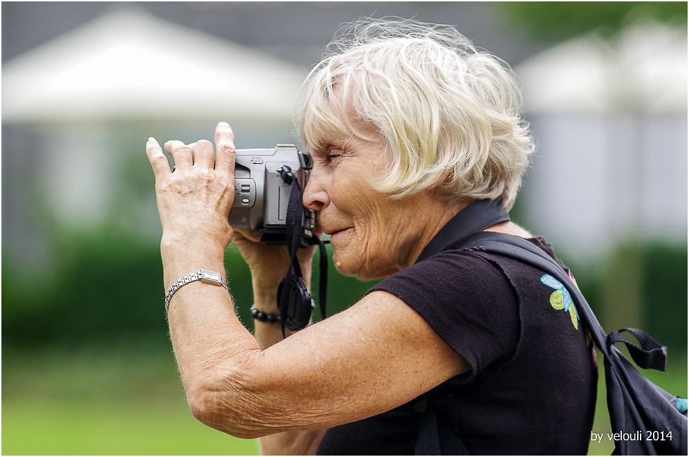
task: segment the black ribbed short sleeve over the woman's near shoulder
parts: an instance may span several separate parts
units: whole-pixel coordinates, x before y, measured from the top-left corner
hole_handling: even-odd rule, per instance
[[[443,250],[371,289],[410,306],[471,367],[469,378],[514,353],[517,293],[501,266],[474,249]]]

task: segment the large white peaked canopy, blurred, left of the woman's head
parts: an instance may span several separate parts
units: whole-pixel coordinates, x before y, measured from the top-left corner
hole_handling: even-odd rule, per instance
[[[298,65],[139,10],[113,12],[3,64],[3,122],[287,121]]]

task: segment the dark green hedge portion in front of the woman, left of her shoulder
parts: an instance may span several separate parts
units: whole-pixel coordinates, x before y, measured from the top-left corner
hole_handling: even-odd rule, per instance
[[[143,245],[127,234],[104,230],[57,243],[59,270],[49,283],[37,283],[16,268],[11,254],[2,259],[2,340],[6,348],[48,344],[145,339],[168,344],[163,307],[163,265],[157,244]],[[329,249],[328,313],[356,303],[376,281],[358,281],[337,272]],[[249,330],[253,321],[250,272],[234,245],[225,257],[237,313]],[[318,301],[320,261],[313,268]],[[318,312],[315,319],[320,319]]]

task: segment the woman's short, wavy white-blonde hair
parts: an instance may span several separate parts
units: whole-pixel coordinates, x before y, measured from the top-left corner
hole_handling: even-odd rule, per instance
[[[533,152],[516,77],[451,26],[360,19],[340,29],[302,88],[302,143],[367,135],[387,143],[374,188],[394,196],[437,187],[444,198],[502,198],[510,209]],[[337,86],[341,106],[333,106]],[[337,105],[337,103],[335,103]]]

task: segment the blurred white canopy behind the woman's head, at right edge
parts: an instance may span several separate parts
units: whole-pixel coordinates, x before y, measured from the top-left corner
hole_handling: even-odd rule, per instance
[[[617,39],[587,35],[515,68],[527,113],[686,114],[686,28],[636,24]]]

